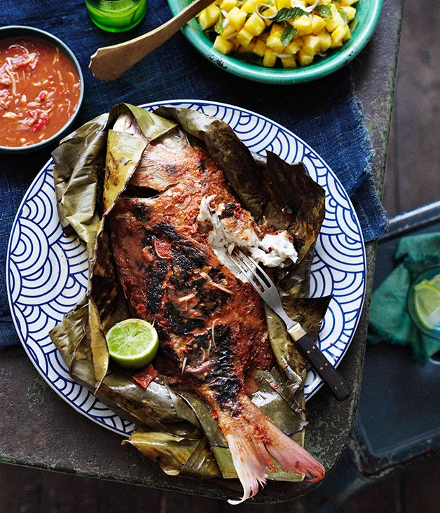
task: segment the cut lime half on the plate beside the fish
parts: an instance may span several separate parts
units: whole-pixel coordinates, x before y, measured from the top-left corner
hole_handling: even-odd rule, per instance
[[[122,367],[144,367],[158,352],[158,332],[142,319],[125,319],[115,324],[106,339],[111,358]]]

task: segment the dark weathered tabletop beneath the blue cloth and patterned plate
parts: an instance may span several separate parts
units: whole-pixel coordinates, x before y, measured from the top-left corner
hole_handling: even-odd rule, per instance
[[[378,29],[352,64],[359,99],[376,155],[373,173],[382,192],[387,139],[404,0],[385,0]],[[366,245],[366,301],[350,350],[339,369],[352,388],[345,402],[322,389],[308,402],[310,428],[306,447],[331,472],[343,455],[355,423],[362,381],[366,326],[373,282],[376,244]],[[0,462],[100,477],[160,489],[228,498],[216,482],[167,477],[135,449],[121,449],[121,437],[85,419],[41,379],[21,348],[0,352]],[[257,496],[275,503],[309,493],[316,483],[270,482]]]

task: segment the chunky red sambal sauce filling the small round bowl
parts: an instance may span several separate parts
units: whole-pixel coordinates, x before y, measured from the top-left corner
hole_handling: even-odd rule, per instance
[[[31,146],[56,134],[78,106],[71,59],[36,38],[0,40],[0,146]]]

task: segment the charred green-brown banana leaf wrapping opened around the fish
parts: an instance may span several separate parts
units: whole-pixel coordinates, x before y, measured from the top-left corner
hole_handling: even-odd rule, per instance
[[[143,139],[113,129],[119,116],[128,113],[135,117]],[[50,337],[72,379],[137,424],[123,443],[134,445],[169,475],[230,479],[237,477],[231,454],[205,402],[195,393],[174,390],[160,374],[142,388],[132,372],[109,360],[106,346],[109,328],[132,316],[116,276],[106,216],[124,194],[146,146],[179,136],[188,137],[219,163],[242,206],[256,220],[265,218],[294,237],[298,262],[277,272],[277,286],[289,316],[317,336],[330,297],[306,296],[315,240],[324,219],[324,190],[303,165],[287,164],[270,152],[267,159],[253,155],[231,127],[198,111],[159,108],[149,113],[119,104],[67,136],[53,152],[60,222],[88,248],[89,284],[83,300],[51,330]],[[171,185],[157,178],[163,190]],[[130,188],[131,196],[136,193],[137,188]],[[157,191],[141,192],[149,193]],[[303,444],[305,360],[270,309],[266,318],[277,365],[256,372],[251,398],[278,428]],[[303,478],[277,469],[270,479]]]

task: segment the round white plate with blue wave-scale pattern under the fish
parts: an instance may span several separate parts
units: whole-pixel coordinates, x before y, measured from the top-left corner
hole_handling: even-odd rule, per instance
[[[248,148],[268,149],[287,162],[301,160],[326,191],[326,216],[317,239],[310,295],[333,297],[319,332],[319,347],[333,365],[341,362],[355,333],[365,293],[366,260],[362,230],[338,178],[308,144],[281,125],[243,108],[214,101],[172,100],[142,106],[193,108],[230,125]],[[88,267],[78,237],[61,229],[53,185],[53,160],[41,169],[27,190],[11,232],[6,262],[8,300],[15,328],[29,358],[47,383],[69,404],[121,435],[135,427],[87,388],[71,380],[49,331],[83,297]],[[322,385],[314,370],[305,381],[309,399]]]

